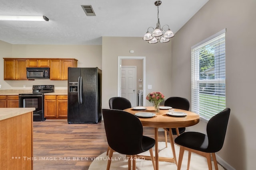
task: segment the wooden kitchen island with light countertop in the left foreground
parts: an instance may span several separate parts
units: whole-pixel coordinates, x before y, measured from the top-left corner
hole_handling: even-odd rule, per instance
[[[34,110],[34,107],[0,108],[1,169],[33,169]]]

